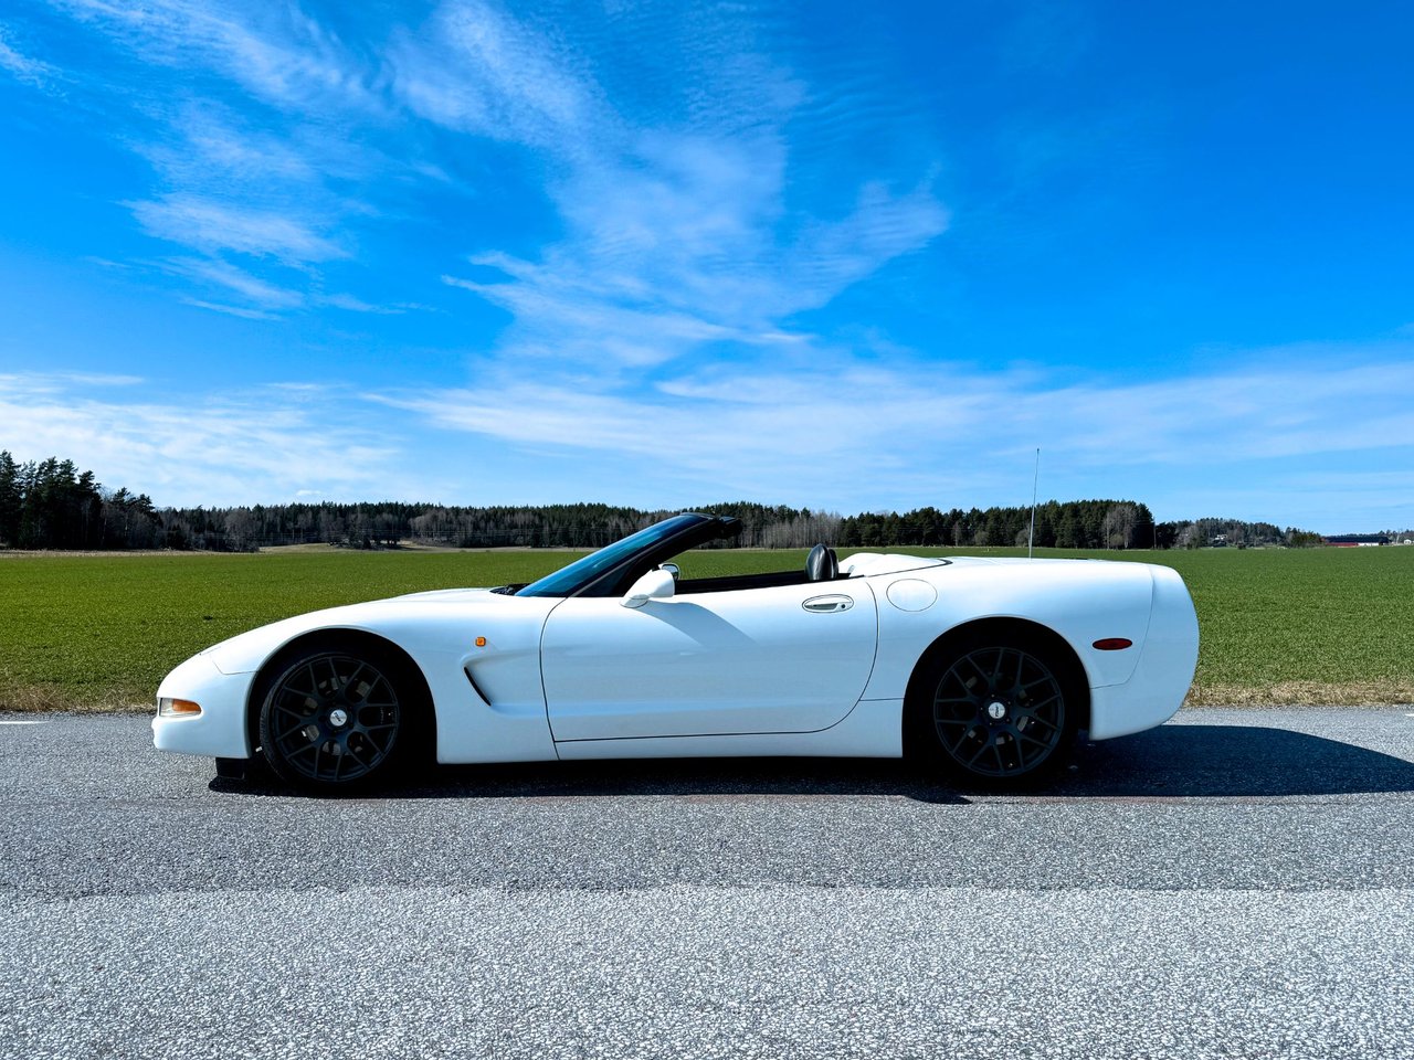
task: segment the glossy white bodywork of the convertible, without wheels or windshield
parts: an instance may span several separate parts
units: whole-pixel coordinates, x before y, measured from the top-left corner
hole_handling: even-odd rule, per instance
[[[1165,567],[868,553],[841,567],[855,577],[699,594],[687,582],[636,609],[454,589],[300,615],[173,670],[158,695],[195,700],[202,714],[154,719],[154,743],[249,758],[260,669],[321,630],[359,630],[407,653],[433,697],[441,762],[896,756],[919,659],[978,619],[1036,623],[1075,650],[1094,739],[1162,724],[1193,676],[1192,601]],[[806,611],[812,601],[840,609]],[[1133,647],[1092,646],[1107,637]]]

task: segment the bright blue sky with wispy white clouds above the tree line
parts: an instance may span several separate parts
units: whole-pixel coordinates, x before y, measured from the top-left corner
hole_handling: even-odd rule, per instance
[[[165,505],[1414,524],[1403,4],[0,14],[0,448]]]

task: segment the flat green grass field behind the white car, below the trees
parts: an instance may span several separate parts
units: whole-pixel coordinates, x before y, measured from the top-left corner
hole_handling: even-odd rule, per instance
[[[978,553],[1017,554],[973,550]],[[233,633],[335,603],[532,581],[575,555],[335,548],[0,554],[0,709],[147,709],[167,670]],[[1203,637],[1193,704],[1414,701],[1414,548],[1124,557],[1175,567],[1193,592]],[[803,551],[693,553],[683,574],[803,564]]]

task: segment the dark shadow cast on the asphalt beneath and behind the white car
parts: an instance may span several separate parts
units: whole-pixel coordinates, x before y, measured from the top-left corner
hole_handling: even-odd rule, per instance
[[[298,794],[266,770],[216,779],[214,791]],[[1414,763],[1287,729],[1165,725],[1083,743],[1055,780],[1010,799],[1263,799],[1414,791]],[[592,799],[674,796],[875,796],[964,804],[991,793],[953,787],[894,759],[624,759],[437,766],[368,794],[380,799]]]

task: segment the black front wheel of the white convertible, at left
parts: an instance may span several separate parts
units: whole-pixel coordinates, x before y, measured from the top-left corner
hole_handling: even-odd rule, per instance
[[[416,701],[393,657],[339,647],[287,660],[263,684],[260,748],[287,783],[354,791],[393,777],[417,725]]]

